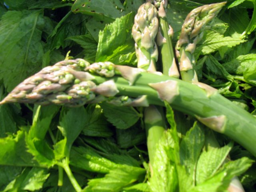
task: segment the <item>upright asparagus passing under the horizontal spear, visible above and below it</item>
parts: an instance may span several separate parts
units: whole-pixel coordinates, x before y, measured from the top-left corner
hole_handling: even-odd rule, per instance
[[[155,24],[155,26],[152,27],[152,24]],[[156,8],[154,8],[154,6],[150,4],[150,2],[142,4],[142,6],[140,6],[138,10],[138,14],[136,14],[135,16],[135,22],[133,26],[133,29],[141,29],[141,32],[142,32],[141,40],[138,40],[138,30],[136,30],[135,32],[133,31],[132,35],[134,40],[136,40],[136,44],[135,44],[136,52],[138,53],[138,50],[144,50],[144,54],[137,54],[137,58],[138,58],[137,67],[145,68],[145,69],[148,68],[151,72],[156,72],[157,58],[155,58],[156,56],[155,53],[157,51],[157,47],[155,42],[155,36],[156,36],[155,34],[156,34],[157,26],[158,26],[158,22],[157,22]],[[148,37],[145,36],[146,34],[144,32],[145,29],[146,29],[146,33],[149,32],[149,34],[154,34],[154,35],[150,35]],[[150,46],[148,46],[148,48],[144,46],[145,38],[147,38],[146,41],[150,42]],[[144,63],[145,55],[150,59],[154,58],[154,59],[151,59],[150,63],[146,65]],[[162,114],[160,113],[159,109],[160,108],[156,108],[154,105],[150,105],[149,107],[146,107],[144,110],[144,124],[145,124],[146,135],[147,135],[147,147],[148,147],[148,156],[149,156],[150,165],[152,165],[154,162],[156,146],[165,130],[164,120],[162,118]]]

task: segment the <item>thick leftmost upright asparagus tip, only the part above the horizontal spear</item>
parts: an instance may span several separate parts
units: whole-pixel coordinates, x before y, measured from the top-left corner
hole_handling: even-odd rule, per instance
[[[138,9],[132,27],[138,67],[148,71],[156,71],[158,49],[155,37],[158,32],[157,10],[150,2],[144,3]]]

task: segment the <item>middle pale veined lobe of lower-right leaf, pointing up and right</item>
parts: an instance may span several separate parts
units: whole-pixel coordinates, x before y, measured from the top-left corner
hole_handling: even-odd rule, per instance
[[[203,183],[217,172],[232,146],[233,144],[229,143],[222,148],[211,147],[202,152],[196,166],[196,184]]]

